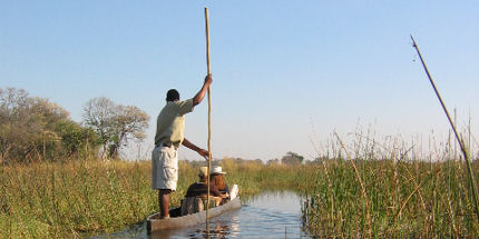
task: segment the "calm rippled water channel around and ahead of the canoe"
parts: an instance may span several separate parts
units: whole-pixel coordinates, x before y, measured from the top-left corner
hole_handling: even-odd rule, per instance
[[[301,230],[301,198],[294,192],[266,192],[209,222],[209,238],[307,238]],[[206,238],[206,225],[147,235],[146,223],[95,238]]]

